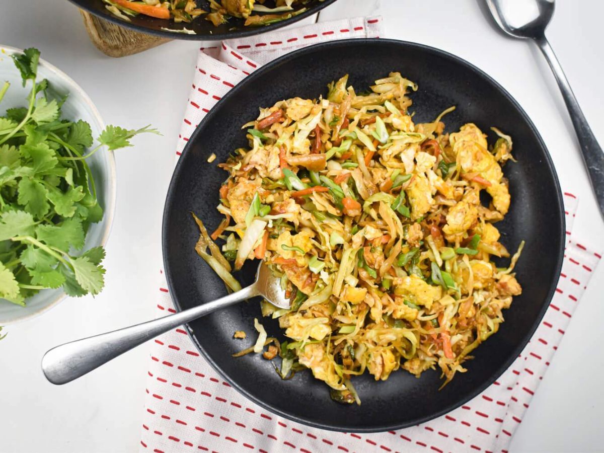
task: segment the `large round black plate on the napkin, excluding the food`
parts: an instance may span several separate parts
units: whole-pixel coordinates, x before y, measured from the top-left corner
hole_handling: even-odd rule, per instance
[[[226,294],[225,286],[193,246],[199,232],[190,211],[213,231],[222,216],[216,211],[220,183],[227,173],[217,169],[228,153],[247,146],[241,125],[257,117],[259,106],[300,96],[316,98],[326,84],[349,72],[357,91],[390,71],[400,71],[419,84],[412,94],[416,121],[432,121],[451,105],[446,130],[473,121],[510,133],[518,162],[504,172],[510,180],[512,207],[497,224],[501,242],[515,251],[526,246],[516,271],[523,292],[506,310],[506,323],[481,345],[468,371],[458,374],[443,390],[437,371],[420,379],[397,371],[388,381],[375,382],[365,373],[353,379],[362,405],[332,402],[328,388],[310,371],[281,381],[272,364],[260,355],[234,359],[231,353],[253,344],[254,318],[261,319],[257,301],[242,303],[190,324],[199,351],[233,387],[266,409],[297,422],[338,431],[386,431],[415,425],[457,408],[483,391],[512,364],[527,344],[556,288],[564,252],[564,209],[556,172],[533,123],[515,100],[493,79],[443,51],[419,44],[385,39],[356,39],[323,43],[288,54],[263,66],[240,82],[199,124],[184,149],[168,191],[162,231],[165,271],[170,294],[179,309],[187,309]],[[493,137],[490,137],[493,140]],[[207,158],[217,159],[208,164]],[[237,278],[253,279],[256,263]],[[283,339],[278,324],[265,318],[269,336]],[[245,330],[248,339],[233,339]]]

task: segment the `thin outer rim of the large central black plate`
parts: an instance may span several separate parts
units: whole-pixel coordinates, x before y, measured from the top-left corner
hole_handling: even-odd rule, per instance
[[[229,382],[229,384],[231,384],[233,386],[233,388],[236,388],[237,391],[239,391],[239,393],[243,394],[243,396],[251,399],[253,402],[255,402],[257,405],[262,406],[263,408],[265,408],[268,411],[271,411],[274,414],[277,414],[279,416],[282,416],[286,419],[292,420],[294,422],[298,422],[301,423],[303,425],[307,425],[307,426],[313,426],[315,428],[320,428],[320,429],[327,429],[329,431],[343,431],[343,432],[382,432],[382,431],[394,431],[396,429],[402,429],[402,428],[408,428],[409,426],[414,426],[414,425],[419,425],[420,423],[424,423],[424,422],[428,422],[428,420],[432,420],[435,419],[437,417],[443,416],[449,412],[451,412],[452,410],[460,407],[461,405],[465,404],[466,402],[468,402],[469,400],[471,400],[472,398],[478,396],[478,394],[482,393],[484,390],[486,390],[487,387],[489,387],[490,385],[493,384],[493,382],[495,382],[498,377],[501,376],[501,374],[503,374],[513,363],[513,361],[516,360],[516,358],[518,358],[518,356],[520,355],[520,353],[522,352],[522,350],[524,349],[524,347],[528,344],[528,341],[532,338],[532,336],[535,334],[535,330],[537,329],[537,327],[539,326],[539,324],[541,323],[541,320],[543,318],[543,316],[545,315],[545,311],[547,310],[547,308],[550,305],[550,301],[551,298],[554,295],[554,292],[556,291],[556,286],[557,286],[557,281],[559,279],[559,274],[561,272],[562,269],[562,260],[564,259],[564,244],[565,244],[565,217],[564,217],[564,202],[562,201],[562,190],[560,187],[560,182],[558,180],[558,176],[556,173],[556,169],[554,168],[554,164],[553,161],[551,160],[551,156],[550,153],[547,150],[547,147],[545,146],[545,143],[543,141],[543,139],[541,138],[541,135],[539,134],[538,130],[535,127],[535,124],[533,124],[533,121],[530,120],[530,118],[528,117],[527,113],[524,111],[524,109],[522,109],[522,107],[520,106],[520,104],[518,103],[518,101],[516,101],[512,95],[509,94],[509,92],[506,91],[506,89],[503,88],[503,86],[501,86],[498,82],[496,82],[496,80],[494,80],[492,77],[490,77],[488,74],[486,74],[486,72],[482,71],[481,69],[477,68],[477,66],[472,65],[472,63],[467,62],[464,59],[461,59],[460,57],[457,57],[451,53],[448,53],[446,51],[434,48],[434,47],[430,47],[427,45],[423,45],[423,44],[419,44],[419,43],[414,43],[414,42],[409,42],[409,41],[402,41],[402,40],[397,40],[397,39],[374,39],[374,38],[362,38],[362,39],[344,39],[344,40],[336,40],[336,41],[330,41],[330,42],[324,42],[324,43],[318,43],[309,47],[305,47],[299,50],[296,50],[292,53],[286,54],[284,56],[279,57],[278,59],[273,60],[272,62],[267,63],[266,65],[262,66],[262,68],[258,69],[257,71],[252,72],[252,74],[250,74],[248,77],[246,77],[245,79],[243,79],[241,82],[239,82],[239,84],[231,89],[231,91],[229,91],[226,95],[224,95],[222,97],[222,99],[220,101],[218,101],[216,103],[216,105],[214,105],[214,107],[210,110],[210,112],[204,117],[204,119],[198,124],[198,126],[196,127],[196,129],[194,130],[193,134],[191,134],[191,137],[189,138],[189,141],[187,142],[186,146],[184,147],[184,149],[182,150],[182,154],[184,155],[187,150],[188,147],[192,146],[191,144],[194,143],[195,139],[197,138],[198,134],[200,133],[200,131],[202,130],[202,126],[204,126],[204,124],[207,121],[210,121],[210,119],[216,115],[216,112],[218,112],[220,110],[220,106],[222,106],[222,103],[225,103],[228,99],[230,99],[231,97],[233,97],[234,95],[237,95],[237,91],[238,89],[243,89],[245,88],[246,85],[248,85],[249,83],[254,82],[254,79],[256,79],[257,77],[260,76],[260,74],[263,74],[265,72],[271,71],[272,68],[274,68],[275,66],[279,66],[282,63],[290,60],[290,59],[294,59],[300,55],[303,55],[305,53],[312,53],[314,51],[316,51],[319,48],[332,48],[332,47],[339,47],[339,46],[346,46],[349,44],[370,44],[370,45],[401,45],[403,47],[413,47],[416,48],[417,50],[420,51],[426,51],[429,53],[433,53],[436,54],[437,56],[446,58],[446,59],[450,59],[453,60],[454,62],[462,65],[462,66],[466,66],[467,69],[470,69],[471,71],[475,72],[479,77],[483,77],[484,79],[487,80],[487,82],[491,83],[493,86],[495,86],[496,89],[498,89],[501,94],[504,95],[504,97],[507,98],[507,100],[509,100],[513,106],[515,106],[516,109],[518,109],[518,111],[520,112],[522,118],[524,121],[526,121],[526,123],[528,124],[528,126],[530,127],[530,129],[532,130],[532,132],[535,134],[539,145],[541,146],[541,148],[544,150],[544,155],[545,155],[545,164],[547,165],[547,170],[551,173],[551,175],[554,178],[554,184],[556,185],[556,194],[555,194],[555,202],[556,202],[556,206],[557,206],[557,210],[558,210],[558,217],[559,217],[559,223],[561,225],[561,236],[559,237],[560,240],[560,244],[561,247],[558,251],[558,256],[557,256],[557,263],[556,263],[556,275],[558,275],[557,278],[554,278],[554,280],[551,282],[551,286],[550,289],[547,293],[547,296],[545,297],[544,301],[543,301],[543,306],[541,307],[541,310],[539,310],[538,315],[535,318],[535,322],[533,323],[532,328],[530,329],[530,332],[528,332],[527,335],[524,336],[524,338],[522,338],[522,340],[519,342],[519,344],[516,346],[515,350],[513,350],[513,352],[510,354],[509,358],[507,359],[506,362],[504,362],[503,365],[501,365],[500,368],[498,368],[498,370],[496,370],[490,377],[489,379],[486,379],[484,381],[483,384],[481,384],[480,386],[478,386],[477,388],[474,389],[474,391],[471,391],[466,397],[464,397],[461,400],[458,400],[455,403],[452,403],[450,405],[445,406],[444,408],[442,408],[442,410],[437,411],[429,416],[425,416],[425,417],[418,417],[417,419],[411,420],[410,422],[406,422],[406,423],[392,423],[390,425],[382,425],[382,426],[371,426],[368,428],[358,428],[358,426],[352,427],[352,426],[345,426],[345,425],[340,425],[340,426],[330,426],[330,425],[324,425],[322,423],[316,423],[313,420],[310,419],[306,419],[303,417],[298,417],[295,414],[292,413],[287,413],[281,410],[278,410],[274,407],[272,407],[271,405],[263,402],[262,400],[258,399],[257,397],[255,397],[252,394],[249,394],[247,391],[245,391],[243,388],[241,388],[239,385],[237,385],[236,382],[234,382],[233,380],[231,380],[230,376],[227,376],[225,373],[223,373],[222,369],[216,364],[216,362],[214,362],[206,353],[204,350],[204,347],[199,343],[198,339],[191,333],[191,329],[187,324],[187,333],[190,336],[191,340],[193,341],[193,343],[195,344],[195,346],[197,347],[197,349],[199,350],[199,352],[204,356],[204,358],[210,363],[210,365],[214,368],[214,370],[216,370],[220,376],[222,376],[227,382]],[[168,193],[166,196],[166,200],[165,200],[165,206],[164,206],[164,218],[162,221],[162,254],[164,257],[164,271],[165,271],[165,277],[167,279],[167,284],[168,284],[168,288],[170,291],[170,294],[175,294],[175,292],[173,291],[173,283],[172,283],[172,275],[170,273],[170,262],[169,259],[167,258],[168,253],[167,253],[167,228],[168,228],[168,219],[167,219],[167,213],[169,211],[170,205],[172,204],[172,200],[175,198],[176,196],[176,181],[178,181],[179,175],[182,171],[184,171],[185,167],[184,164],[182,164],[183,159],[179,159],[179,161],[176,164],[176,168],[174,170],[173,176],[172,176],[172,180],[170,181],[170,187],[168,188]],[[173,301],[175,304],[175,307],[178,311],[182,311],[182,307],[179,304],[178,300],[176,299],[176,297],[173,297]]]

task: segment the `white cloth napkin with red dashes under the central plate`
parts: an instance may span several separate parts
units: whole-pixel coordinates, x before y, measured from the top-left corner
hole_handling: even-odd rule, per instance
[[[230,40],[202,48],[179,135],[188,137],[230,88],[249,72],[306,45],[350,37],[378,37],[381,18],[323,22],[293,30]],[[484,451],[506,452],[542,379],[600,255],[571,235],[576,197],[564,194],[567,248],[556,294],[522,354],[495,384],[446,416],[399,431],[332,432],[291,422],[260,408],[223,381],[195,350],[183,329],[152,344],[140,450],[187,451]],[[161,278],[157,316],[175,312]]]

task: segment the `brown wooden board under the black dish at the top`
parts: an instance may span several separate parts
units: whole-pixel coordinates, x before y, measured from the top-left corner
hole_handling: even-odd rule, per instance
[[[120,27],[87,11],[80,10],[80,13],[92,43],[110,57],[125,57],[170,41],[167,38]]]

